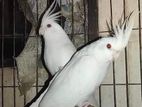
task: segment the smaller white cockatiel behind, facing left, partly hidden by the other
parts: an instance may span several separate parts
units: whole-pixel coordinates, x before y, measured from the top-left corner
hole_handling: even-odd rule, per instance
[[[56,5],[54,0],[45,12],[39,29],[39,35],[42,35],[45,41],[44,61],[52,75],[62,69],[76,52],[68,35],[56,22],[60,14],[60,12],[53,13]]]

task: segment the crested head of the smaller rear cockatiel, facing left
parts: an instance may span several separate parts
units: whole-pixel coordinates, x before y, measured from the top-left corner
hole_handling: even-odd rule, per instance
[[[60,17],[60,12],[53,13],[57,6],[56,0],[50,5],[42,17],[41,25],[39,28],[39,35],[44,36],[46,32],[57,33],[60,31],[61,27],[56,22],[58,17]]]

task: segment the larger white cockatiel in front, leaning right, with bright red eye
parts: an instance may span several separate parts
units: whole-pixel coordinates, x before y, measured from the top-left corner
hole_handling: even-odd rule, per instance
[[[130,14],[113,28],[112,37],[103,37],[77,51],[41,94],[39,107],[87,107],[87,99],[101,84],[112,61],[128,44],[132,27],[133,16]]]

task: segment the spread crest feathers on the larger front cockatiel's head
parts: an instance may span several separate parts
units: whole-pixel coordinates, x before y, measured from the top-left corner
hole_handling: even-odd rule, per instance
[[[120,50],[126,47],[130,33],[132,31],[133,22],[134,21],[134,13],[131,12],[129,16],[126,17],[124,22],[122,22],[122,18],[119,20],[118,25],[112,28],[112,35],[117,38],[117,45]],[[123,35],[123,36],[122,36]]]

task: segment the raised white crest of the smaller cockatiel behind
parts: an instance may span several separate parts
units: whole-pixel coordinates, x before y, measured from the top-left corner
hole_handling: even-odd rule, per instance
[[[42,22],[45,22],[47,20],[57,21],[58,17],[60,17],[60,11],[53,13],[57,7],[56,0],[53,1],[53,3],[50,5],[50,7],[46,10],[45,14],[43,15]]]

